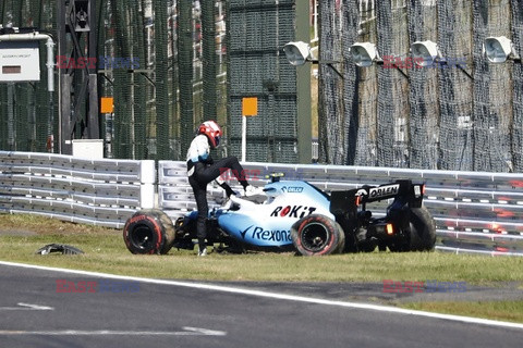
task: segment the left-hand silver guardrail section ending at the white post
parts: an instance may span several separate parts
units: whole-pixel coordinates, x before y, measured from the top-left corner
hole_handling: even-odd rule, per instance
[[[155,161],[0,151],[0,213],[121,228],[155,204]]]

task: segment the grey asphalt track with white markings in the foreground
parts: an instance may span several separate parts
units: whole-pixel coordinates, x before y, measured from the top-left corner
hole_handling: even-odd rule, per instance
[[[523,325],[278,296],[275,287],[143,281],[132,291],[57,293],[57,281],[100,284],[101,276],[0,263],[0,347],[498,348],[523,341]]]

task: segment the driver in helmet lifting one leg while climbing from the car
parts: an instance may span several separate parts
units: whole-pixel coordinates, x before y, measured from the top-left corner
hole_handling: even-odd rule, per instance
[[[219,176],[226,169],[232,170],[233,175],[243,186],[245,196],[259,195],[260,190],[250,185],[245,177],[241,177],[244,173],[242,165],[235,157],[227,157],[218,161],[214,161],[210,157],[210,150],[219,146],[221,136],[223,135],[220,126],[215,121],[206,121],[198,127],[196,137],[191,142],[187,151],[187,176],[188,183],[193,188],[196,206],[198,209],[198,220],[196,222],[196,235],[198,238],[198,256],[206,256],[207,227],[206,221],[209,214],[207,203],[207,184],[215,181],[226,190],[228,197],[234,195],[231,187],[221,181]]]

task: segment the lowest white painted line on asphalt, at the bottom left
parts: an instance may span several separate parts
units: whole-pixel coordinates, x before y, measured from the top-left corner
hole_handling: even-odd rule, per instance
[[[161,331],[80,331],[80,330],[61,330],[61,331],[20,331],[20,330],[1,330],[0,336],[226,336],[223,331],[207,330],[200,327],[182,327],[183,331],[161,332]]]

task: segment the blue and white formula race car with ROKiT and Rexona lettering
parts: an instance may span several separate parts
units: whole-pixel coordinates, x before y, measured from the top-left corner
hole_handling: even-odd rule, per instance
[[[332,191],[330,195],[302,181],[272,175],[263,203],[231,196],[209,213],[208,245],[218,250],[295,250],[304,256],[339,252],[431,250],[436,226],[422,206],[424,185],[397,181],[380,186]],[[392,199],[382,216],[367,203]],[[197,211],[173,224],[160,210],[143,210],[123,229],[133,253],[167,253],[172,247],[193,249]]]

